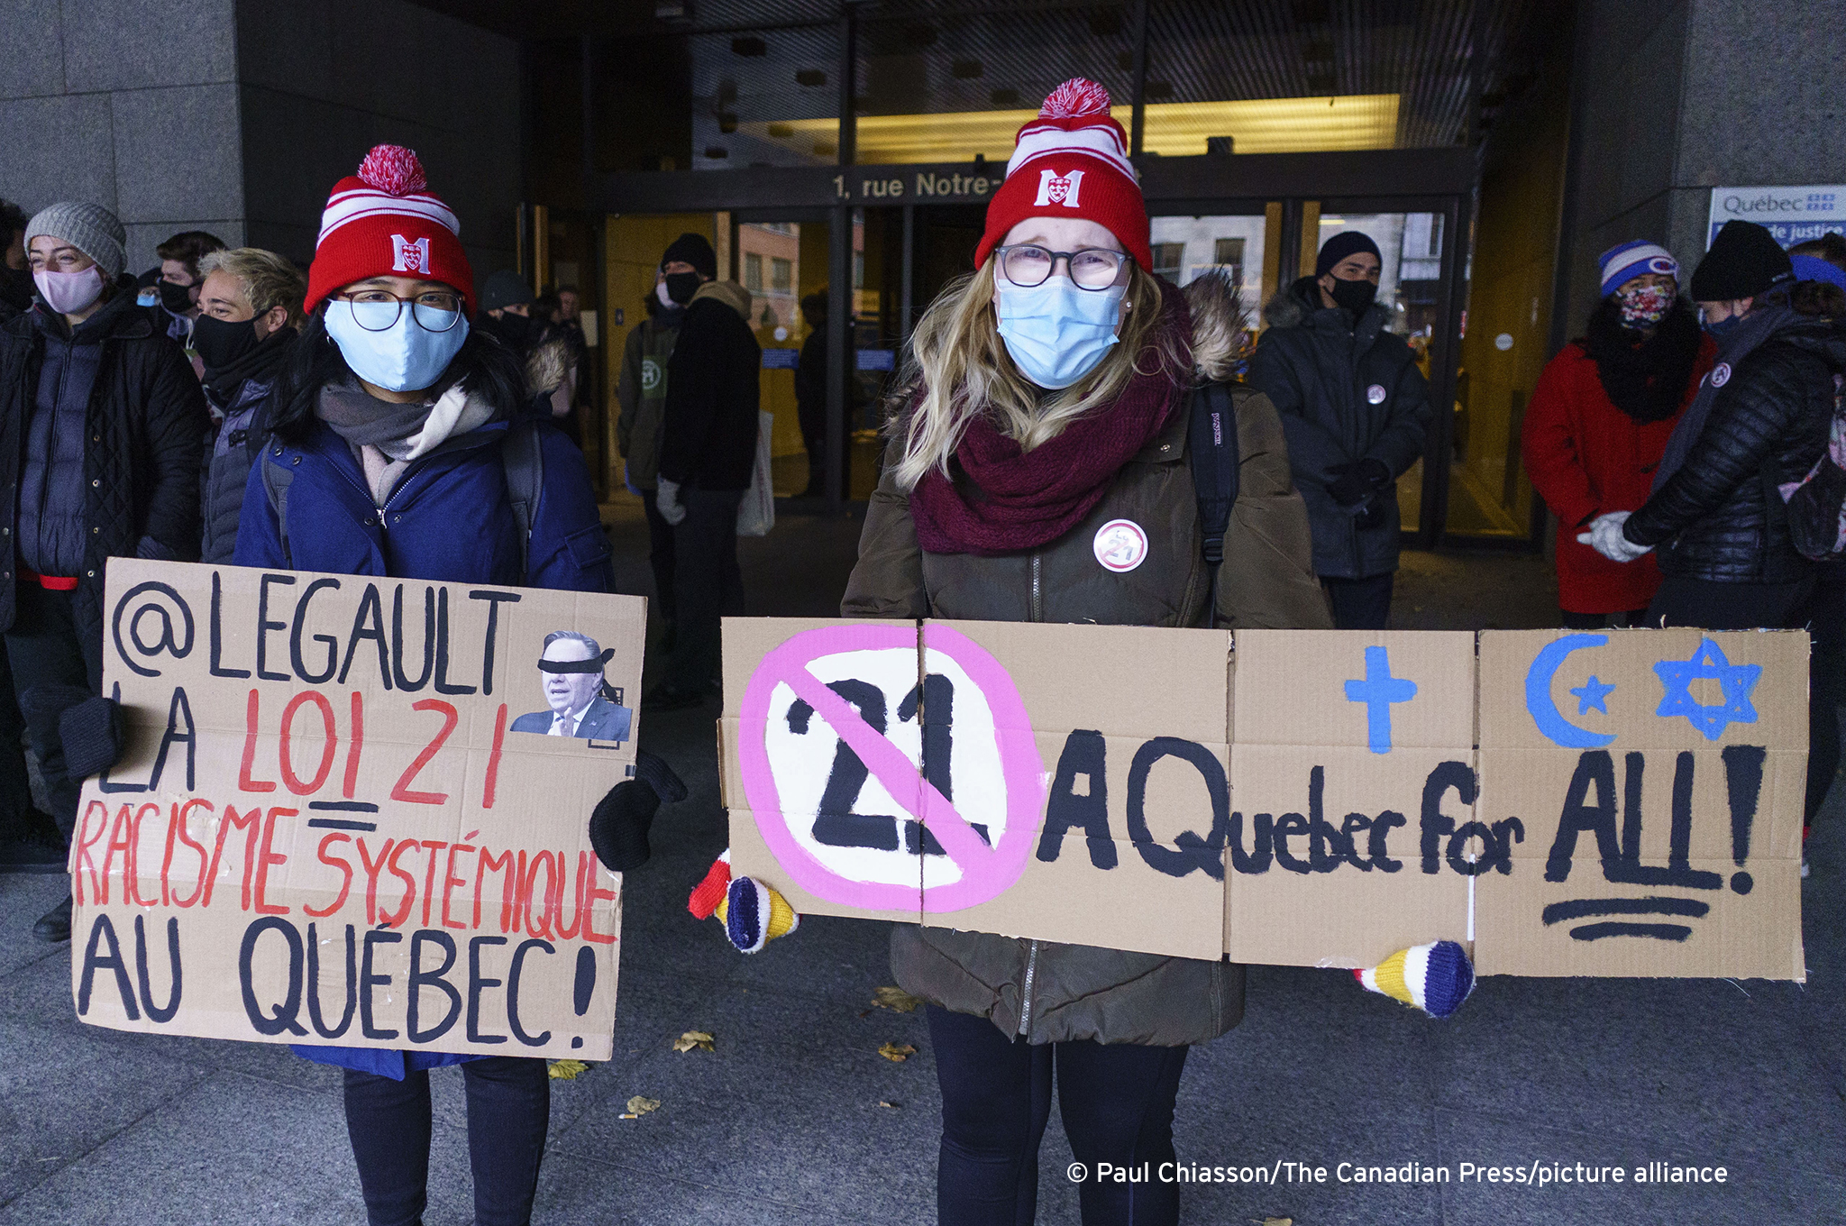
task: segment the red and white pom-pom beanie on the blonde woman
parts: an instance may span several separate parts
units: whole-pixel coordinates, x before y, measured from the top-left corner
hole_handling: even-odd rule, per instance
[[[1148,209],[1128,161],[1128,137],[1109,118],[1109,90],[1095,81],[1071,78],[1019,129],[1006,181],[988,205],[975,268],[1026,218],[1087,218],[1106,225],[1141,268],[1154,268]]]

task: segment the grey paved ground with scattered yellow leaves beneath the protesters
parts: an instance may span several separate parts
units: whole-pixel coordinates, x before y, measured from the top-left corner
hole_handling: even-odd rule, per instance
[[[624,591],[648,591],[639,515],[615,524]],[[753,613],[827,615],[849,519],[790,519],[744,547]],[[1536,558],[1408,556],[1397,624],[1549,624]],[[646,720],[692,785],[624,897],[617,1058],[552,1082],[541,1226],[934,1220],[934,1065],[921,1016],[871,1006],[884,925],[803,920],[731,953],[685,895],[725,846],[713,716]],[[1449,1023],[1342,971],[1253,968],[1244,1023],[1193,1051],[1180,1156],[1305,1161],[1724,1165],[1711,1187],[1211,1184],[1183,1220],[1300,1226],[1700,1226],[1846,1220],[1846,794],[1815,836],[1809,982],[1488,979]],[[0,877],[0,1226],[364,1222],[340,1080],[286,1049],[118,1034],[72,1016],[68,949],[30,936],[61,879]],[[716,1052],[674,1052],[689,1028]],[[905,1064],[881,1043],[914,1043]],[[428,1226],[471,1220],[460,1075],[438,1084]],[[620,1119],[631,1095],[661,1100]],[[882,1106],[890,1102],[893,1106]],[[1076,1222],[1056,1113],[1039,1222]]]

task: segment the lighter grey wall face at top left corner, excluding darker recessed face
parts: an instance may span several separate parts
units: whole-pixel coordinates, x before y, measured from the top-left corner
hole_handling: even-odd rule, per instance
[[[183,229],[244,242],[233,0],[0,0],[0,196],[109,207],[127,268]]]

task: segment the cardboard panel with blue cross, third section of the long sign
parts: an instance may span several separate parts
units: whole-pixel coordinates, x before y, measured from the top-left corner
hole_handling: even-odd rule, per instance
[[[1471,940],[1475,635],[1246,630],[1231,694],[1231,958]]]

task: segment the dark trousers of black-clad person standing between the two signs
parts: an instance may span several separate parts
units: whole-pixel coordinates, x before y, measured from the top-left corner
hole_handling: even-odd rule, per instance
[[[737,506],[742,489],[679,491],[687,517],[674,528],[674,650],[666,683],[701,691],[718,676],[725,617],[744,613],[744,574],[737,569]]]

